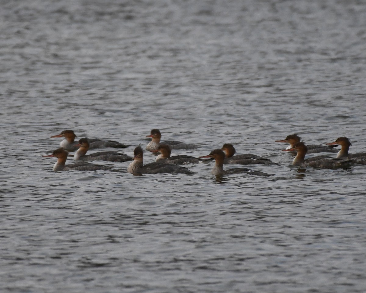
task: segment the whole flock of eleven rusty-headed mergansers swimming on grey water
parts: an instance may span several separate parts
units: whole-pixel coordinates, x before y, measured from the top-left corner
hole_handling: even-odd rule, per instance
[[[87,154],[89,149],[93,148],[127,148],[128,145],[122,144],[112,140],[100,140],[93,138],[81,138],[78,142],[75,141],[76,135],[72,130],[64,130],[60,134],[53,137],[63,137],[64,140],[60,142],[60,148],[53,151],[51,155],[44,157],[56,157],[57,162],[53,166],[53,171],[68,171],[68,170],[107,170],[111,166],[91,164],[90,161],[102,160],[108,162],[128,162],[132,161],[128,167],[127,172],[133,175],[143,174],[157,174],[157,173],[182,173],[193,174],[194,172],[186,167],[180,165],[186,164],[209,164],[215,160],[212,169],[213,175],[227,175],[246,173],[257,176],[270,176],[270,174],[255,171],[248,168],[231,168],[224,170],[224,164],[238,164],[238,165],[253,165],[253,164],[276,164],[270,159],[253,154],[235,155],[235,148],[232,144],[224,144],[222,148],[215,149],[208,155],[193,157],[187,155],[171,156],[171,151],[175,149],[195,149],[198,148],[194,144],[186,144],[180,141],[163,141],[161,140],[161,133],[158,129],[152,129],[150,135],[146,137],[152,138],[152,141],[146,145],[146,150],[159,153],[156,157],[156,162],[143,164],[143,150],[139,145],[134,149],[134,157],[128,156],[119,152],[96,152]],[[292,164],[299,167],[313,167],[313,168],[338,168],[346,167],[350,164],[366,165],[366,153],[349,154],[348,150],[351,146],[350,140],[347,137],[339,137],[333,142],[325,145],[305,145],[300,141],[301,138],[297,134],[291,134],[283,140],[276,140],[276,142],[285,142],[290,144],[282,151],[296,153]],[[340,146],[340,149],[334,147]],[[69,152],[75,152],[73,155],[74,164],[65,166]],[[329,155],[315,156],[305,159],[307,153],[337,153],[336,157]]]

